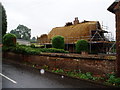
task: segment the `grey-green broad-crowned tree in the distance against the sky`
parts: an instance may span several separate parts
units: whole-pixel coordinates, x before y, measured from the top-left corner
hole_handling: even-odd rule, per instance
[[[10,33],[15,34],[17,39],[30,40],[31,29],[24,25],[18,25],[14,30],[11,30]]]

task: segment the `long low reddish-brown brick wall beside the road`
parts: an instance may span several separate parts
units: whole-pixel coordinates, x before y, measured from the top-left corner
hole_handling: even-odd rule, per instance
[[[40,55],[22,55],[11,52],[3,53],[3,58],[18,62],[28,62],[36,66],[47,65],[49,69],[59,68],[67,71],[81,70],[94,74],[105,74],[115,71],[115,56],[80,54],[43,53]]]

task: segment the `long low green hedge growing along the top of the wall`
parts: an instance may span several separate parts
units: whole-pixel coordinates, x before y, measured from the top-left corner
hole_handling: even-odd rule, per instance
[[[39,55],[41,52],[47,53],[68,53],[63,49],[55,49],[55,48],[31,48],[30,46],[25,45],[17,45],[16,47],[6,47],[3,46],[3,52],[14,52],[20,54],[27,54],[27,55]]]

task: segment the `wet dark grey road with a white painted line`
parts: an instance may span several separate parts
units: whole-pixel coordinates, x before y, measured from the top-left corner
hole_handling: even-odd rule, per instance
[[[40,74],[39,70],[27,66],[3,62],[2,74],[11,80],[2,77],[2,88],[102,88],[83,80],[70,77],[62,78],[61,75],[45,72]]]

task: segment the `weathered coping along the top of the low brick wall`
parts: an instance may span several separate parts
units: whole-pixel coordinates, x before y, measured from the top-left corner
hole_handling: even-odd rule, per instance
[[[65,53],[41,53],[41,56],[72,58],[72,59],[89,59],[89,60],[116,60],[115,55],[81,55],[81,54],[65,54]]]

